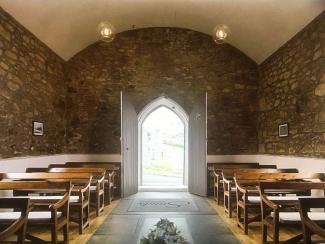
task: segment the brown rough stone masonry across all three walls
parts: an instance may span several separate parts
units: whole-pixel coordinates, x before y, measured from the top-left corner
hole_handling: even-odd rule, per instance
[[[162,94],[189,112],[207,91],[209,154],[324,157],[324,16],[260,66],[177,28],[123,32],[64,62],[0,8],[0,157],[120,153],[121,90],[138,112]]]

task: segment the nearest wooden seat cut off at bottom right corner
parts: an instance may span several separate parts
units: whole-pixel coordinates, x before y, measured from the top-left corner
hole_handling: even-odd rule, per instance
[[[310,212],[311,208],[325,208],[325,198],[300,198],[299,213],[304,234],[304,243],[312,243],[313,234],[325,239],[325,212]],[[321,243],[324,243],[324,239]]]

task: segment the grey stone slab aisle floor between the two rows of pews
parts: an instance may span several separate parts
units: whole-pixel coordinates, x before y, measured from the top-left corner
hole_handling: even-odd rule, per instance
[[[140,193],[122,199],[118,211],[113,210],[88,243],[146,244],[153,236],[183,244],[240,243],[214,209],[203,211],[205,204],[209,206],[205,198],[184,193],[160,196]],[[176,205],[172,211],[170,204]]]

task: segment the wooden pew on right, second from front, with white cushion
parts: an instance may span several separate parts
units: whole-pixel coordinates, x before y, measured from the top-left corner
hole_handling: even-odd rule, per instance
[[[311,174],[291,177],[292,180],[319,180],[324,179],[323,174]],[[267,242],[268,229],[272,231],[272,242],[279,243],[279,228],[285,225],[301,225],[299,212],[288,212],[288,209],[297,208],[299,198],[304,196],[269,196],[269,192],[273,190],[323,190],[325,189],[324,182],[295,182],[295,181],[261,181],[259,183],[259,192],[261,197],[261,211],[262,211],[262,241]],[[308,196],[310,197],[310,196]],[[285,212],[284,212],[285,211]],[[325,219],[324,219],[325,220]],[[303,234],[296,235],[286,242],[296,243],[300,241]]]

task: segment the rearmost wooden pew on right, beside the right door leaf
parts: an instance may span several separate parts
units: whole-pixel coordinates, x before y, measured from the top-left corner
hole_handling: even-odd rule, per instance
[[[212,176],[212,187],[213,187],[213,196],[219,205],[221,203],[221,198],[223,197],[223,185],[222,185],[222,170],[223,169],[235,169],[235,168],[249,168],[249,169],[258,169],[259,164],[256,163],[227,163],[227,164],[214,164]],[[211,173],[209,173],[210,175]],[[209,183],[211,184],[211,183]]]

